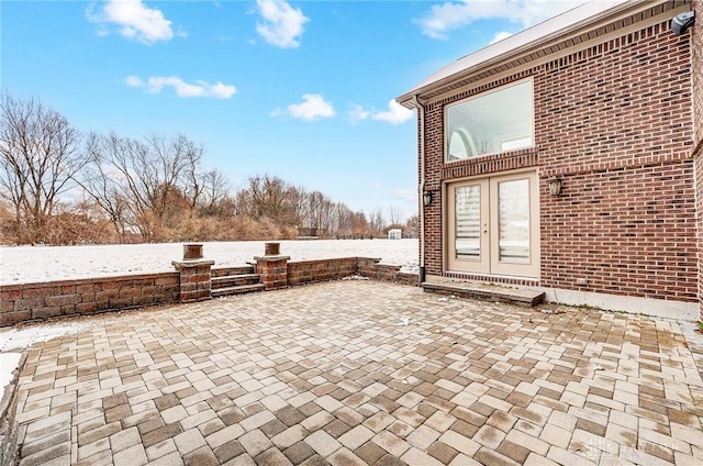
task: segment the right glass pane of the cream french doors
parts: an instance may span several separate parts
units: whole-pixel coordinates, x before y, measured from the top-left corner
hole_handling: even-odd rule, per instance
[[[498,255],[511,264],[529,263],[529,179],[498,184]]]

